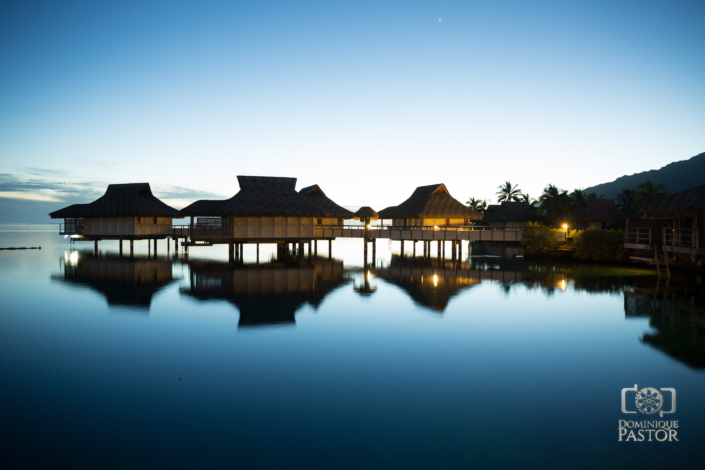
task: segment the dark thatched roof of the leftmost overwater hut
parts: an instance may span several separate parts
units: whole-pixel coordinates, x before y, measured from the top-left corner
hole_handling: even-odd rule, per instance
[[[88,204],[74,204],[49,214],[52,219],[90,217],[180,217],[179,211],[152,195],[149,183],[111,184]]]

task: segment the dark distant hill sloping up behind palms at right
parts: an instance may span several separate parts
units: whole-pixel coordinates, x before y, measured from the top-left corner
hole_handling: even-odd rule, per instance
[[[614,199],[623,189],[634,189],[646,180],[651,180],[654,184],[665,184],[669,194],[705,184],[705,152],[688,160],[669,163],[659,170],[620,176],[611,183],[598,184],[583,191],[595,191],[598,196],[604,194],[605,198]]]

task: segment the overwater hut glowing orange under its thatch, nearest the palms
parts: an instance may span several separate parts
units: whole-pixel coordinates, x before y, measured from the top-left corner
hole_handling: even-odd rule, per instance
[[[432,184],[416,188],[398,206],[382,209],[379,218],[402,226],[468,225],[482,214],[454,199],[444,184]]]

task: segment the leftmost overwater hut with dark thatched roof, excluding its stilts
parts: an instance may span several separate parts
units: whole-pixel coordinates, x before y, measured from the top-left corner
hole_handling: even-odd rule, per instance
[[[62,235],[87,240],[142,240],[172,235],[179,211],[154,197],[149,183],[111,184],[88,204],[73,204],[49,214],[64,219]]]

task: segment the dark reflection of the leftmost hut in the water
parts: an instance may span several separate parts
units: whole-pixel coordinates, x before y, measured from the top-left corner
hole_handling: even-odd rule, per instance
[[[63,274],[52,278],[94,290],[111,307],[147,311],[154,295],[174,281],[171,261],[98,257],[75,251],[66,257]]]

